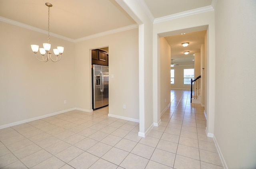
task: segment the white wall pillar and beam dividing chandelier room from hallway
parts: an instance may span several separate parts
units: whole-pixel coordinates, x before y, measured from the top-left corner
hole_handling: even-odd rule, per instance
[[[152,34],[153,23],[137,0],[116,0],[118,4],[139,25],[139,107],[140,107],[140,136],[153,127],[153,83],[152,83]],[[154,75],[153,75],[154,76]]]

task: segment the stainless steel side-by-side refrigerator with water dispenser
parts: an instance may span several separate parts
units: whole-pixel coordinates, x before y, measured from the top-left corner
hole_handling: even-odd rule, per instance
[[[92,65],[92,109],[108,105],[108,66]]]

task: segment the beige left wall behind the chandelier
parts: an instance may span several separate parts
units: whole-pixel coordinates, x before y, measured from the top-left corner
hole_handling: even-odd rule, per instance
[[[44,63],[30,45],[42,47],[48,35],[4,22],[0,28],[0,127],[74,108],[74,43],[50,37],[52,49],[62,45],[64,53]]]

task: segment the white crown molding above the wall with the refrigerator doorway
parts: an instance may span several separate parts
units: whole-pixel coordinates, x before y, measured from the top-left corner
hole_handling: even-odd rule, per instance
[[[86,36],[86,37],[81,37],[81,38],[78,38],[78,39],[74,39],[74,42],[85,41],[85,40],[88,40],[88,39],[93,39],[93,38],[96,38],[96,37],[101,37],[101,36],[104,36],[104,35],[110,35],[110,34],[113,34],[113,33],[118,33],[118,32],[121,32],[121,31],[127,31],[127,30],[135,29],[135,28],[138,28],[138,24],[133,24],[133,25],[122,27],[122,28],[112,29],[110,31],[104,31],[104,32],[97,33],[97,34],[90,35],[90,36]]]

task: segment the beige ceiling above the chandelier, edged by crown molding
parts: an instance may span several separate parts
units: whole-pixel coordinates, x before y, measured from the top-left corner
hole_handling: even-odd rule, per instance
[[[115,0],[0,0],[0,16],[78,39],[136,24]]]

